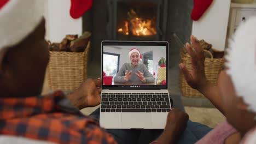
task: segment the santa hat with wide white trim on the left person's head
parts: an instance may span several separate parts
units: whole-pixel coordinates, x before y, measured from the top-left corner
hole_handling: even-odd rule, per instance
[[[0,0],[0,50],[20,43],[40,23],[44,0]]]

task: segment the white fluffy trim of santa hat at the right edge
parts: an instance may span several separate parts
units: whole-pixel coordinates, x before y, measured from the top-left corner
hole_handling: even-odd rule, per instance
[[[227,73],[236,94],[256,113],[256,17],[240,24],[227,51]]]

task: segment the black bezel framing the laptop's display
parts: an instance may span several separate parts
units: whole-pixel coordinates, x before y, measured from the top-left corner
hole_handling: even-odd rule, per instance
[[[168,42],[167,41],[114,41],[104,40],[101,43],[101,72],[103,72],[103,47],[107,45],[134,45],[134,46],[166,46],[166,85],[140,85],[140,87],[131,87],[131,85],[103,85],[103,79],[101,79],[102,89],[167,89],[168,88]],[[103,73],[101,73],[101,78]]]

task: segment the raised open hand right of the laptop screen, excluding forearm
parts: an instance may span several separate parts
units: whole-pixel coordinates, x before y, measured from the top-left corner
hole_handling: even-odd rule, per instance
[[[205,53],[199,41],[193,35],[191,35],[190,40],[194,49],[188,43],[186,44],[186,49],[191,57],[192,70],[189,71],[183,63],[179,64],[179,68],[182,70],[188,85],[199,90],[207,83],[205,76]]]

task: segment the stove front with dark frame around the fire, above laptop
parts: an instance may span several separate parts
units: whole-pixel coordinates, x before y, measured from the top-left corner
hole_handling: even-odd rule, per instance
[[[165,40],[167,0],[107,0],[110,40]]]

